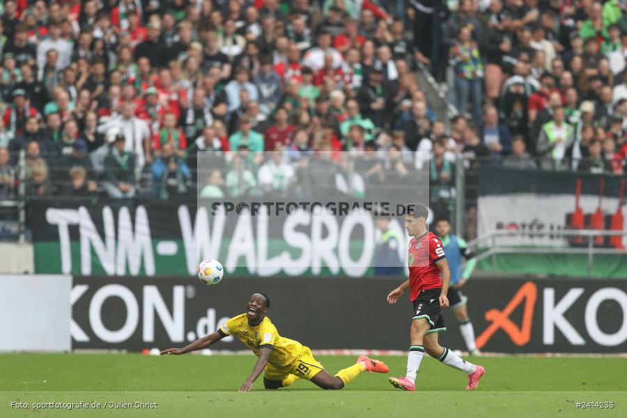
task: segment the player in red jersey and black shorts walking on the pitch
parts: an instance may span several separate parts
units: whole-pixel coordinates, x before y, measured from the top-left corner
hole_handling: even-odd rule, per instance
[[[428,215],[428,208],[421,203],[408,205],[405,215],[405,229],[413,237],[408,249],[410,278],[387,295],[387,302],[395,304],[405,289],[410,288],[410,299],[414,304],[410,328],[411,347],[407,358],[407,374],[402,378],[391,377],[389,382],[398,389],[416,390],[415,380],[420,361],[427,353],[447,366],[467,373],[466,389],[472,390],[477,387],[477,382],[486,370],[467,362],[438,343],[438,332],[447,330],[442,309],[449,306],[447,292],[451,272],[442,241],[427,230]]]

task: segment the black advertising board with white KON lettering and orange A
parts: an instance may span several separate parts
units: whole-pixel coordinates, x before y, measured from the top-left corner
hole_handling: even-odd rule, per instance
[[[72,348],[185,346],[245,311],[252,293],[272,300],[268,316],[281,336],[311,348],[405,350],[412,307],[408,294],[389,305],[401,279],[226,277],[208,287],[195,279],[75,277]],[[464,288],[477,346],[500,353],[627,352],[627,281],[477,279]],[[445,310],[440,343],[464,350]],[[243,350],[225,339],[213,348]]]

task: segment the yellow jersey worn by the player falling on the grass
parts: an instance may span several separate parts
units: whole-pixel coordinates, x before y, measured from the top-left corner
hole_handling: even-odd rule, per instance
[[[284,338],[279,335],[268,316],[261,323],[252,327],[248,323],[246,314],[234,316],[226,321],[220,331],[226,335],[235,335],[259,357],[259,348],[271,346],[272,353],[268,363],[274,366],[293,364],[301,355],[303,347],[298,341]]]

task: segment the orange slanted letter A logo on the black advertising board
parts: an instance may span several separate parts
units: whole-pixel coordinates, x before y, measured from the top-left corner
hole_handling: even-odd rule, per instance
[[[532,322],[534,320],[534,307],[536,305],[536,297],[538,296],[538,288],[532,281],[527,281],[520,286],[516,295],[514,295],[507,306],[499,311],[498,309],[490,309],[486,312],[485,318],[491,324],[481,332],[477,337],[477,348],[482,348],[490,341],[490,338],[498,330],[503,330],[513,343],[517,346],[524,346],[531,339]],[[509,316],[516,308],[525,302],[522,311],[522,324],[520,327],[513,323]]]

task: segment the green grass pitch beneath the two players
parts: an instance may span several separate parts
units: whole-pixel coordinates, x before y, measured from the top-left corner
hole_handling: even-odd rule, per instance
[[[320,356],[330,372],[355,357]],[[382,357],[392,376],[404,357]],[[627,359],[616,357],[468,357],[486,367],[477,390],[463,373],[426,357],[417,392],[392,388],[387,376],[362,373],[341,391],[298,381],[288,389],[238,387],[256,357],[137,354],[0,355],[0,417],[583,417],[627,416]],[[33,409],[33,403],[157,403],[157,409]],[[614,408],[578,409],[577,402]],[[30,408],[11,408],[11,402]]]

